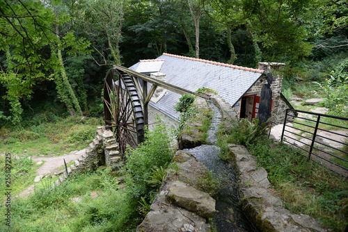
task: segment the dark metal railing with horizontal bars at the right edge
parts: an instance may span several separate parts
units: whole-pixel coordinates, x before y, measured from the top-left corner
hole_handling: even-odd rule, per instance
[[[308,160],[347,178],[347,125],[347,117],[287,109],[280,142],[298,147]]]

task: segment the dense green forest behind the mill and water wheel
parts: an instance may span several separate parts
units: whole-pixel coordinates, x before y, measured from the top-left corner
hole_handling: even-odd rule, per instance
[[[344,106],[347,15],[346,0],[0,0],[0,126],[98,116],[112,64],[164,52],[286,63],[284,91],[310,83]]]

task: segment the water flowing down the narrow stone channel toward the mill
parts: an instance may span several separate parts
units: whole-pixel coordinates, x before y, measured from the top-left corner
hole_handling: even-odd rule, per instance
[[[208,131],[207,143],[193,149],[184,149],[195,156],[198,161],[207,166],[221,182],[221,190],[214,196],[216,210],[214,224],[219,232],[258,231],[242,211],[237,192],[237,176],[235,169],[219,157],[220,148],[216,145],[216,131],[221,123],[221,113],[214,103],[209,103],[214,112],[211,128]]]

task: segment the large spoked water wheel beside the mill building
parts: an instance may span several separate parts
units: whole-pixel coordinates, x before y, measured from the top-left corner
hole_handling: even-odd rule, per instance
[[[144,139],[144,115],[136,85],[125,72],[110,69],[104,82],[104,119],[116,135],[120,153]]]

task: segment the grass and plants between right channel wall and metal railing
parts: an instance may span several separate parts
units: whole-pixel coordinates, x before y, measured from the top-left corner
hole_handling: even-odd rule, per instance
[[[221,126],[218,143],[222,158],[231,160],[227,144],[245,145],[257,157],[258,165],[267,170],[272,188],[287,209],[308,214],[333,231],[343,231],[348,216],[347,180],[308,161],[301,150],[268,140],[262,131],[257,139],[246,140],[244,135],[259,128],[258,124],[247,124],[244,128],[244,124],[239,121]]]

